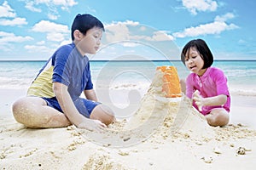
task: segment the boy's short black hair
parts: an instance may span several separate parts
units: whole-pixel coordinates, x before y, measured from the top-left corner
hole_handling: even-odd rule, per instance
[[[104,31],[104,26],[100,20],[90,14],[77,14],[75,19],[73,20],[73,24],[71,27],[71,37],[74,40],[73,32],[75,30],[79,30],[84,35],[91,28],[98,27]]]

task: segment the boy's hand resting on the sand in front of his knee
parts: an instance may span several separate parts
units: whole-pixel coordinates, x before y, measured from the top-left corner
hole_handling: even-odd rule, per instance
[[[81,122],[78,127],[86,128],[90,131],[102,132],[103,128],[107,126],[98,120],[88,119],[86,122]]]

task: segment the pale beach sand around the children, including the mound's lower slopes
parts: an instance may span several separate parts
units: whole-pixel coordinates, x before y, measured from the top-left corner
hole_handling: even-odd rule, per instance
[[[154,90],[129,121],[92,133],[26,128],[11,112],[26,89],[0,89],[0,169],[255,169],[255,96],[231,94],[230,124],[210,127],[188,99],[156,99]]]

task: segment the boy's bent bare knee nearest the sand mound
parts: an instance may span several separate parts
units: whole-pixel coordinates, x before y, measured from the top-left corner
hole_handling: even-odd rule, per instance
[[[96,119],[108,125],[115,121],[113,111],[106,105],[97,105],[90,113],[90,119]]]

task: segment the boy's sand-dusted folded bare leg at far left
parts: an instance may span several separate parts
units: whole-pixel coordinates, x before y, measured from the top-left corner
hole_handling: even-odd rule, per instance
[[[71,122],[60,111],[49,107],[44,99],[25,97],[13,105],[15,120],[26,127],[67,127]]]

